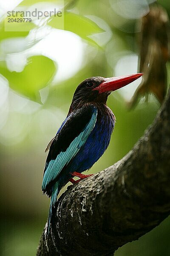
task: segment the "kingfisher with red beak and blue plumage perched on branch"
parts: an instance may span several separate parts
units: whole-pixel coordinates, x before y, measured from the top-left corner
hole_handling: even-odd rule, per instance
[[[116,122],[106,105],[108,96],[142,75],[91,77],[82,81],[75,90],[68,115],[45,150],[49,152],[42,191],[51,197],[47,235],[52,227],[59,191],[68,181],[74,184],[91,176],[82,172],[90,169],[108,148]],[[73,177],[79,177],[79,180]]]

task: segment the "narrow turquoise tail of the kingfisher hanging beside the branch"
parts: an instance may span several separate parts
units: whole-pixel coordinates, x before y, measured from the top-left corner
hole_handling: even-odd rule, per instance
[[[48,224],[47,224],[47,235],[49,233],[51,224],[53,222],[53,215],[54,215],[54,209],[55,209],[55,203],[57,202],[57,196],[59,193],[59,182],[57,181],[54,186],[52,187],[52,193],[51,193],[51,201],[50,201],[50,209],[48,213]]]

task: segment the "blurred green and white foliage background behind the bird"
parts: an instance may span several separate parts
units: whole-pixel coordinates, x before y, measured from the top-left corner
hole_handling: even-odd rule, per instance
[[[47,156],[45,146],[65,119],[74,90],[82,80],[90,76],[137,72],[139,47],[136,38],[140,32],[137,24],[153,2],[0,1],[2,256],[36,254],[49,205],[49,199],[41,191]],[[170,17],[169,0],[158,3]],[[66,5],[64,27],[63,20],[59,24],[55,17],[50,20],[35,18],[30,31],[7,32],[4,15],[17,5],[21,9],[36,7],[40,10]],[[168,64],[167,72],[169,75]],[[127,102],[139,82],[109,96],[108,106],[117,122],[108,150],[90,173],[99,172],[121,159],[156,116],[160,105],[152,95],[147,103],[141,99],[135,109],[127,110]],[[115,253],[115,256],[144,255],[170,255],[170,218]]]

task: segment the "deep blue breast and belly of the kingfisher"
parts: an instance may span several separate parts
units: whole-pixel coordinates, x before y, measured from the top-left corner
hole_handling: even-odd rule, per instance
[[[76,172],[84,172],[99,160],[108,148],[115,121],[115,116],[107,106],[104,109],[97,109],[95,126],[89,134],[86,143],[71,161],[68,167],[69,170],[74,169]]]

